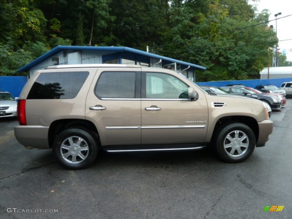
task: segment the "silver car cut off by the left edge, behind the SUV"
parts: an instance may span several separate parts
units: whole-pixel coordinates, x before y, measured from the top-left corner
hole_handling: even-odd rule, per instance
[[[0,117],[16,117],[17,102],[9,92],[0,92]]]

